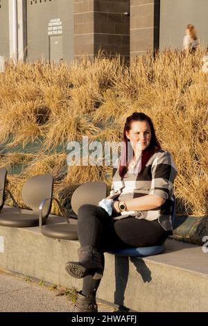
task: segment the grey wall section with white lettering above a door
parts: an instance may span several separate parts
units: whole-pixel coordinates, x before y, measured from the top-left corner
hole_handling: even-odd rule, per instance
[[[28,60],[73,60],[73,0],[27,0],[27,22]]]

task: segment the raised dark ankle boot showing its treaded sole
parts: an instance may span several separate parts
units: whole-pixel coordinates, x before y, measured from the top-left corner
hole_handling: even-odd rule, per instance
[[[94,280],[103,277],[102,254],[94,246],[83,246],[78,249],[79,261],[68,261],[66,271],[76,278],[92,275]]]

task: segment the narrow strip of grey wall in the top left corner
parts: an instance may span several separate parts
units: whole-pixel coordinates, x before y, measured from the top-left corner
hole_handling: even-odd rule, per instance
[[[9,12],[8,0],[0,1],[0,55],[10,58]]]

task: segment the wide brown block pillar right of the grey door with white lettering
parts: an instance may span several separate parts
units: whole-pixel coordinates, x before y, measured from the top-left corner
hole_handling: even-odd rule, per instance
[[[75,56],[130,53],[130,0],[75,0]]]

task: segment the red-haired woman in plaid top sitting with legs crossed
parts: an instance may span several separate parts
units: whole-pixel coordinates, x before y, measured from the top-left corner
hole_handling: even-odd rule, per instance
[[[121,161],[113,169],[108,198],[114,200],[107,201],[111,206],[101,207],[100,202],[100,207],[83,205],[78,210],[78,261],[66,265],[69,275],[84,277],[75,311],[98,311],[96,291],[103,276],[103,252],[161,245],[173,234],[177,169],[171,154],[160,147],[150,117],[141,112],[128,117],[123,144]]]

